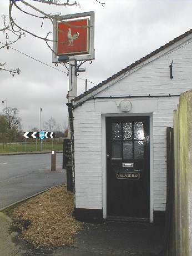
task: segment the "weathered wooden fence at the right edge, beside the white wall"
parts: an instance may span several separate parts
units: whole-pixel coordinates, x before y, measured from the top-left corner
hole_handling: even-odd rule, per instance
[[[167,128],[166,256],[192,255],[192,90],[181,94]],[[174,137],[174,143],[173,143]]]

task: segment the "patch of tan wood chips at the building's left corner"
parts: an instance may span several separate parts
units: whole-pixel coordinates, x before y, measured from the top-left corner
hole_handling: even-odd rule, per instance
[[[59,185],[13,208],[13,225],[20,225],[21,237],[35,248],[73,245],[74,234],[83,224],[72,217],[73,193]],[[19,223],[19,224],[18,224]]]

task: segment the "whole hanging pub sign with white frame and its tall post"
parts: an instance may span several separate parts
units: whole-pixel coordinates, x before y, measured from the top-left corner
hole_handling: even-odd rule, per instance
[[[53,54],[52,62],[69,64],[68,91],[68,139],[71,142],[72,169],[67,169],[67,177],[74,186],[74,129],[72,99],[77,97],[77,72],[85,71],[79,68],[84,61],[93,60],[94,49],[94,12],[84,12],[60,16],[59,21],[53,21]],[[77,62],[82,62],[77,65]],[[66,66],[65,66],[66,67]],[[63,158],[65,156],[63,155]],[[69,173],[70,172],[70,173]],[[69,182],[69,183],[70,183]],[[70,190],[71,191],[71,190]]]

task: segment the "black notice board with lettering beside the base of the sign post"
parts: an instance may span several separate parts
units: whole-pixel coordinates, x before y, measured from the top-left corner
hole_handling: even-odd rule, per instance
[[[72,142],[63,140],[63,169],[72,169]]]

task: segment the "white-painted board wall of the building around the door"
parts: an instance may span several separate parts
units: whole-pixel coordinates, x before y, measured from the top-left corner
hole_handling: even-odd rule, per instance
[[[150,59],[149,59],[150,61]],[[173,79],[169,65],[173,61]],[[129,98],[129,113],[151,113],[153,123],[153,210],[165,210],[166,203],[166,127],[173,127],[173,110],[179,94],[192,88],[192,44],[165,54],[119,82],[103,89],[97,99],[83,103],[74,111],[75,204],[77,208],[103,208],[102,114],[122,114],[119,103]],[[174,97],[160,97],[178,95]],[[99,97],[102,97],[99,99]],[[105,98],[103,98],[105,97]],[[112,97],[112,98],[109,98]],[[122,97],[120,99],[113,97]],[[128,113],[128,114],[129,114]]]

